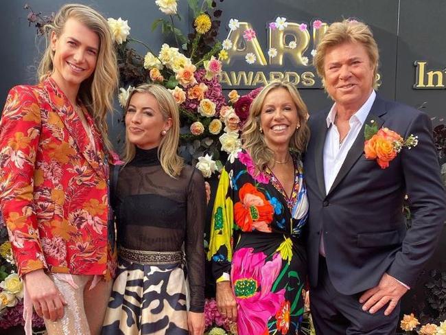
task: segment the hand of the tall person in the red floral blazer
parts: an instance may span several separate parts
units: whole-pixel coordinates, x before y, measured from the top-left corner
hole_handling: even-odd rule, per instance
[[[67,301],[43,270],[27,273],[25,286],[38,316],[51,321],[57,321],[64,316],[64,305],[67,305]]]

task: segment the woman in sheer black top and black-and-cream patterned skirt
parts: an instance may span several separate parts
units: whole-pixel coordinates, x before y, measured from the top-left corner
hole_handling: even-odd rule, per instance
[[[134,89],[115,194],[118,273],[103,334],[204,332],[204,180],[178,157],[178,137],[169,91]]]

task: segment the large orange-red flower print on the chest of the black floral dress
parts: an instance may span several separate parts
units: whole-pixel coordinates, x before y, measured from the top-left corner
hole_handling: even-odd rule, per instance
[[[234,205],[234,219],[242,231],[253,228],[266,233],[271,232],[271,221],[274,208],[263,193],[250,183],[246,183],[239,191],[240,201]]]

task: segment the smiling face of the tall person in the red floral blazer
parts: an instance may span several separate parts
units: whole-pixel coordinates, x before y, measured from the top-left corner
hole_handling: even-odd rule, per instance
[[[99,45],[99,36],[73,18],[67,20],[60,36],[51,33],[54,51],[51,78],[62,91],[78,90],[81,82],[93,74]]]

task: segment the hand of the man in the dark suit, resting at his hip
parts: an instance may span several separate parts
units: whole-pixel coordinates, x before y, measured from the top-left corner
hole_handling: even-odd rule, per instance
[[[366,290],[360,297],[362,310],[369,311],[371,314],[383,308],[387,303],[388,306],[384,311],[384,315],[390,315],[398,304],[399,299],[408,291],[397,279],[384,273],[379,281],[378,286]]]

